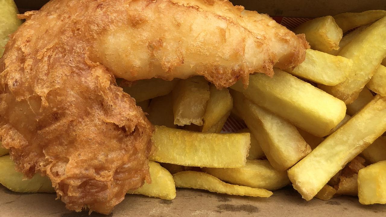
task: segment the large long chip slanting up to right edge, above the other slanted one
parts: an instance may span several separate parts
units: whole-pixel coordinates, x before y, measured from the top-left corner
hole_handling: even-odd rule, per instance
[[[349,77],[339,85],[320,85],[320,88],[350,104],[356,100],[386,57],[386,17],[359,33],[338,55],[353,60]]]

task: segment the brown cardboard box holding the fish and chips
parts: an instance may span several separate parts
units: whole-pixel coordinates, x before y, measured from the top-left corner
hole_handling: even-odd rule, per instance
[[[16,0],[20,12],[38,10],[47,0]],[[320,17],[341,12],[386,10],[384,0],[234,0],[249,10],[271,16]],[[0,186],[0,217],[87,217],[88,212],[71,212],[55,194],[14,193]],[[91,217],[106,216],[92,213]],[[314,198],[306,202],[291,186],[274,192],[270,198],[239,197],[177,189],[174,200],[127,195],[110,217],[124,216],[386,216],[386,205],[364,206],[356,197],[336,197],[328,201]]]

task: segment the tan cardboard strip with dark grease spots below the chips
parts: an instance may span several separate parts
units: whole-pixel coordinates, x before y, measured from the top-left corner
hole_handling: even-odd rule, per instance
[[[87,217],[88,212],[70,212],[64,203],[55,200],[55,194],[13,193],[0,187],[0,216],[2,217]],[[91,217],[106,215],[92,213]],[[157,217],[217,217],[217,216],[386,216],[385,205],[361,205],[356,197],[337,197],[328,201],[314,198],[306,202],[291,187],[274,192],[270,198],[240,197],[206,192],[203,190],[177,189],[174,200],[126,195],[108,217],[157,216]]]

